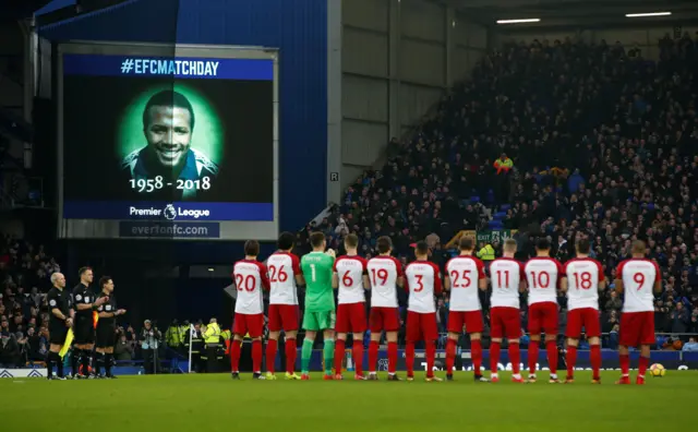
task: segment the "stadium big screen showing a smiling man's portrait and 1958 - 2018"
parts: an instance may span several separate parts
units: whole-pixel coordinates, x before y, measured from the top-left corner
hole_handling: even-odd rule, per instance
[[[59,48],[61,238],[273,240],[277,52]]]

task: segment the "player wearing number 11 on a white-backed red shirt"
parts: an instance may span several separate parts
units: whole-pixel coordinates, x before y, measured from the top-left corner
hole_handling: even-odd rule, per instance
[[[493,383],[500,382],[497,368],[500,364],[500,351],[502,339],[506,336],[509,343],[509,361],[512,362],[512,381],[522,383],[520,374],[521,351],[519,338],[521,337],[521,316],[519,315],[519,291],[526,290],[526,274],[524,264],[514,260],[516,254],[516,240],[507,239],[504,242],[504,256],[490,264],[490,280],[492,283],[492,297],[490,299],[490,371]]]

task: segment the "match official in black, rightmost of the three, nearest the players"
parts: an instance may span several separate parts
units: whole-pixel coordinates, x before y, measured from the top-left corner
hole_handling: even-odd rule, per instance
[[[127,313],[124,309],[117,309],[117,299],[113,297],[113,280],[109,276],[99,278],[99,288],[101,289],[97,296],[99,299],[107,299],[104,304],[97,307],[97,344],[95,348],[95,376],[113,379],[111,368],[113,367],[113,346],[116,344],[117,320],[119,315]],[[105,369],[106,375],[101,375],[101,368]]]

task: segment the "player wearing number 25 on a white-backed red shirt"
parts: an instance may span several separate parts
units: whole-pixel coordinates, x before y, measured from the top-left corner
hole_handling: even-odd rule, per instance
[[[461,237],[459,242],[460,255],[446,263],[444,286],[450,290],[448,307],[448,341],[446,343],[446,380],[454,379],[453,370],[456,360],[456,346],[462,333],[462,327],[470,335],[470,352],[476,382],[486,382],[482,376],[482,344],[480,338],[484,324],[482,307],[478,289],[488,289],[484,275],[484,264],[472,256],[476,241],[471,237]]]

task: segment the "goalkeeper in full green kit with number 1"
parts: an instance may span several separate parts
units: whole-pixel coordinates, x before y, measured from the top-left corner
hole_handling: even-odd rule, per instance
[[[303,349],[301,350],[301,380],[310,380],[310,357],[317,332],[323,332],[325,341],[325,380],[332,380],[335,358],[335,296],[332,289],[335,251],[325,252],[325,235],[310,235],[313,251],[301,259],[301,271],[305,277],[305,312],[303,313]]]

